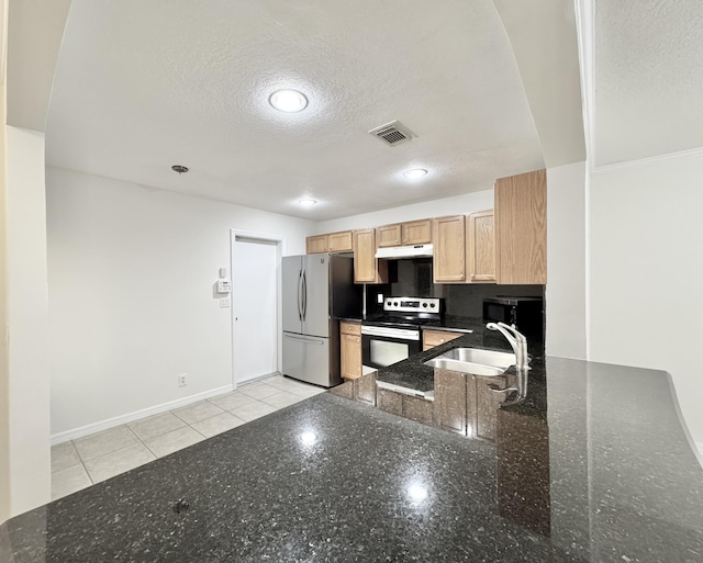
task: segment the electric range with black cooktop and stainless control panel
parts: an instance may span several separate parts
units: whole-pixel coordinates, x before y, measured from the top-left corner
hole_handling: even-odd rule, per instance
[[[421,326],[442,320],[443,302],[426,297],[386,297],[383,313],[361,322],[364,371],[386,368],[422,351]]]

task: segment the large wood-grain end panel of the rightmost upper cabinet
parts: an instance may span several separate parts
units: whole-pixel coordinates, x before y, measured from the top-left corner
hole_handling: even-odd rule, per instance
[[[536,170],[495,181],[498,283],[547,283],[547,174]]]

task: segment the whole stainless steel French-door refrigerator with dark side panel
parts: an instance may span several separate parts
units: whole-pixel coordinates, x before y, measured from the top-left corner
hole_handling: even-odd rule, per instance
[[[282,269],[283,374],[325,387],[337,385],[338,319],[361,313],[354,260],[331,254],[289,256]]]

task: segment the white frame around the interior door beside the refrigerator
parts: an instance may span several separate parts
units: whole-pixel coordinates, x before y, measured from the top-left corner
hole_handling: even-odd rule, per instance
[[[271,235],[268,233],[255,233],[252,230],[230,229],[230,279],[232,280],[232,294],[230,299],[230,327],[232,333],[230,335],[230,347],[232,358],[232,389],[237,389],[236,378],[236,363],[235,358],[235,336],[236,326],[234,322],[234,304],[236,302],[236,295],[234,294],[234,264],[235,262],[235,243],[237,238],[244,238],[247,240],[260,240],[265,243],[276,243],[276,369],[280,373],[282,370],[282,356],[283,356],[283,341],[281,338],[281,330],[283,326],[283,315],[281,307],[281,290],[283,286],[283,280],[281,277],[281,259],[286,252],[286,237],[281,235]]]

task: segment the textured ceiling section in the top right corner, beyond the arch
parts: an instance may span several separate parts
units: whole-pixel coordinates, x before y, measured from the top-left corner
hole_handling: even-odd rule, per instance
[[[703,2],[595,0],[595,165],[703,147]]]

